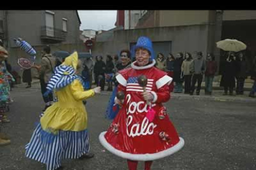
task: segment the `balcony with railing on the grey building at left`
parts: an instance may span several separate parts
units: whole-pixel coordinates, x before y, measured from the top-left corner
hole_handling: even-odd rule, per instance
[[[41,27],[41,39],[45,41],[61,42],[66,41],[67,32],[49,26]]]

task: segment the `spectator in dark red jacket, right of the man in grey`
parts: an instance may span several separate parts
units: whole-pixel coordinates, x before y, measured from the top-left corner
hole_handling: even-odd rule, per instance
[[[217,71],[217,63],[215,56],[211,53],[207,54],[206,70],[205,70],[205,95],[211,95],[213,87],[213,78]]]

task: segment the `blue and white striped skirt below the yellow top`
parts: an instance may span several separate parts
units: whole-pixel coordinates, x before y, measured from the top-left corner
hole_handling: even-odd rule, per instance
[[[54,135],[38,124],[25,150],[26,157],[46,164],[47,170],[57,169],[62,159],[77,159],[90,151],[88,132],[59,131]]]

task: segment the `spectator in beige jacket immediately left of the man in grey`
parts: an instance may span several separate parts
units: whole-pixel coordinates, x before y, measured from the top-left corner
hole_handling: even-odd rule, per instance
[[[189,94],[191,90],[192,62],[192,55],[189,52],[187,52],[185,55],[185,60],[182,62],[181,65],[181,71],[183,72],[184,75],[184,94]]]

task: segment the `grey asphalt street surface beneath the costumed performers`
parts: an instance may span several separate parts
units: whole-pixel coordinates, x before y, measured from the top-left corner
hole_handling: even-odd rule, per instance
[[[174,155],[153,162],[152,170],[252,170],[256,169],[256,99],[244,96],[173,94],[166,103],[168,114],[185,146]],[[14,103],[3,131],[12,144],[0,148],[1,170],[46,170],[44,164],[25,158],[25,145],[29,142],[35,123],[39,121],[43,99],[39,84],[31,89],[16,87],[11,93]],[[91,150],[90,160],[64,160],[66,170],[127,169],[126,160],[106,151],[98,140],[111,121],[105,119],[109,93],[87,102],[88,129]],[[143,169],[143,164],[139,164]]]

